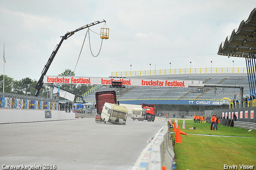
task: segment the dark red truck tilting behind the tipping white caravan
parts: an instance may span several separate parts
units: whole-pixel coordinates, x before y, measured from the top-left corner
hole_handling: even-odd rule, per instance
[[[103,122],[101,118],[101,112],[102,112],[103,106],[106,102],[116,104],[116,91],[113,90],[113,91],[96,92],[95,98],[96,98],[96,110],[97,110],[95,122]]]

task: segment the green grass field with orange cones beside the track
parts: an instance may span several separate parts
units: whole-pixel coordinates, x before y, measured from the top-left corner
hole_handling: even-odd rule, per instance
[[[223,170],[224,164],[254,165],[256,169],[256,131],[243,128],[228,128],[218,124],[217,130],[210,130],[209,123],[194,123],[186,120],[186,129],[182,129],[183,120],[178,120],[180,130],[190,135],[181,135],[181,142],[174,145],[177,162],[176,170]],[[189,130],[196,127],[196,130]],[[172,132],[173,130],[170,129]],[[198,136],[194,134],[220,135]],[[175,133],[172,134],[174,137]],[[222,136],[243,136],[237,138]],[[175,139],[175,138],[174,138]]]

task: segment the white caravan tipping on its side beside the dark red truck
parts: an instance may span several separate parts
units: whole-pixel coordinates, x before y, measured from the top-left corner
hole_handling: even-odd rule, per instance
[[[106,102],[102,108],[101,119],[104,123],[126,124],[127,115],[128,109],[126,107]]]

